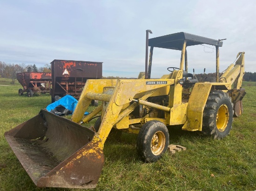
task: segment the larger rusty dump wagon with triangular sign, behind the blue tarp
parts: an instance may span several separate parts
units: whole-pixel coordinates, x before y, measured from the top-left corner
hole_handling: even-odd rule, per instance
[[[78,99],[87,79],[102,77],[102,62],[54,60],[51,62],[52,102],[71,95]]]

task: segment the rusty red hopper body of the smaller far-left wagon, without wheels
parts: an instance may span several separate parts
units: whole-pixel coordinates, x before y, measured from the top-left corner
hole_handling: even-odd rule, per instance
[[[49,89],[45,89],[41,83],[47,83],[50,87],[51,76],[49,72],[22,72],[17,73],[17,80],[22,85],[23,92],[34,87],[38,87],[38,92],[49,92]]]

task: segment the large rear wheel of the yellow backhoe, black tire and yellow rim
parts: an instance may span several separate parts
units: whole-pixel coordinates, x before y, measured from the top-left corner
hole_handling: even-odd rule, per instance
[[[211,91],[203,110],[202,134],[222,139],[229,134],[232,122],[231,97],[223,91]]]

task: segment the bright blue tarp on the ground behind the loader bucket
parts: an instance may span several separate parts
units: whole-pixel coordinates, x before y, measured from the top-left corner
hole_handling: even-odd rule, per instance
[[[48,105],[46,110],[50,112],[51,110],[53,110],[57,106],[62,105],[63,107],[72,111],[72,113],[73,113],[77,102],[78,101],[73,96],[66,95],[66,96],[62,97],[61,99],[59,99],[58,101]],[[88,112],[85,112],[85,115],[88,115]]]

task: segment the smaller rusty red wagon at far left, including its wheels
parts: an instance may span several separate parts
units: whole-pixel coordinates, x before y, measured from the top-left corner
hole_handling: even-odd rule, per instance
[[[50,91],[51,73],[49,72],[22,72],[17,73],[17,80],[23,86],[19,95],[27,92],[32,97],[34,92],[47,93]]]

